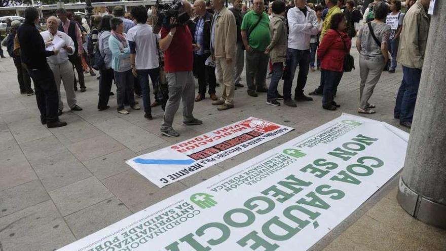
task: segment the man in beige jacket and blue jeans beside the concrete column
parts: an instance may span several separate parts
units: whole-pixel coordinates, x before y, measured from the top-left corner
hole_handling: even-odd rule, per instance
[[[409,128],[414,117],[429,33],[429,4],[430,0],[418,0],[407,11],[399,40],[397,60],[402,64],[403,79],[396,96],[394,116],[402,126]]]

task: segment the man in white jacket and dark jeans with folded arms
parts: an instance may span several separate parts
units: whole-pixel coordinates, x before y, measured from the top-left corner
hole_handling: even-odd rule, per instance
[[[319,32],[320,24],[316,12],[305,5],[306,0],[295,0],[295,7],[288,10],[288,55],[286,59],[286,74],[283,82],[284,103],[296,107],[294,100],[311,101],[313,98],[304,95],[307,75],[310,67],[311,35]],[[297,86],[294,90],[294,100],[291,99],[291,87],[296,67],[299,64]]]

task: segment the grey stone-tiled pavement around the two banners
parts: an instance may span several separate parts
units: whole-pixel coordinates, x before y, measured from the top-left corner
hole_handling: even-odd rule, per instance
[[[358,59],[355,48],[352,54]],[[312,102],[299,102],[297,108],[273,107],[265,103],[265,93],[257,98],[250,97],[244,87],[236,90],[235,108],[228,111],[218,112],[208,97],[196,102],[194,115],[203,120],[201,126],[182,126],[181,113],[177,113],[174,128],[181,136],[168,138],[159,131],[161,107],[153,109],[152,121],[143,118],[142,110],[120,115],[116,111],[116,96],[112,96],[111,108],[97,111],[98,80],[88,74],[87,92],[76,92],[78,104],[84,111],[67,111],[62,91],[65,111],[60,119],[67,121],[68,126],[48,129],[40,123],[35,96],[20,94],[12,59],[1,59],[0,251],[57,249],[342,113],[357,115],[358,62],[356,65],[357,69],[346,73],[342,79],[336,97],[341,108],[336,112],[322,110],[320,96],[314,97]],[[364,117],[399,127],[398,121],[393,119],[393,107],[401,77],[400,67],[396,74],[383,73],[371,98],[377,105],[377,113]],[[319,71],[309,74],[306,93],[318,86],[319,78]],[[243,76],[243,83],[244,80]],[[116,93],[115,87],[114,91]],[[219,91],[217,88],[217,94]],[[142,105],[142,99],[137,100]],[[139,154],[249,116],[295,130],[162,189],[124,163]],[[446,250],[446,231],[414,220],[399,207],[395,199],[398,178],[398,175],[392,178],[313,249]]]

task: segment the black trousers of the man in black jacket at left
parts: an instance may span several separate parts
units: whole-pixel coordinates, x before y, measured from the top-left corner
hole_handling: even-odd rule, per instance
[[[37,100],[41,120],[43,122],[58,121],[59,97],[50,66],[46,64],[40,69],[28,69],[28,73],[34,82],[35,99]]]

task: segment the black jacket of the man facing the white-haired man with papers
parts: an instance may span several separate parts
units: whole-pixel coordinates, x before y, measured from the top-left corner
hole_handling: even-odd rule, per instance
[[[24,23],[17,30],[20,43],[20,58],[29,69],[48,68],[47,57],[54,52],[45,50],[45,42],[34,24]]]

